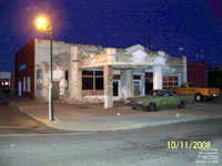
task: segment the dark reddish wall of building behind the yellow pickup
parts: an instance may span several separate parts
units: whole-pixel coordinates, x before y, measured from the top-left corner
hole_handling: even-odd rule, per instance
[[[200,87],[208,87],[208,64],[188,62],[188,82],[195,82]]]

